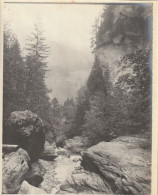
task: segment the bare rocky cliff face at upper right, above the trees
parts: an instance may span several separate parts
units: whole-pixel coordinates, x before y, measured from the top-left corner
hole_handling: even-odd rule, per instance
[[[103,72],[109,70],[113,85],[119,76],[133,72],[132,67],[123,67],[123,64],[120,64],[121,58],[127,53],[151,47],[151,29],[150,4],[110,5],[106,8],[96,33],[95,55]]]

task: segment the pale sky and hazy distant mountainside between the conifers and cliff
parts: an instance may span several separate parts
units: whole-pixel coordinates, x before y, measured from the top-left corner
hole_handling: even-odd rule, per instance
[[[94,59],[92,25],[102,10],[103,5],[5,4],[4,20],[11,23],[22,48],[33,24],[41,21],[51,48],[46,84],[52,98],[63,102],[75,97],[86,82]]]

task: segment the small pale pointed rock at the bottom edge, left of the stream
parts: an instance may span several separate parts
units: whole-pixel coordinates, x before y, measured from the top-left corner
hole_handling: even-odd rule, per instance
[[[23,181],[18,194],[47,194],[44,190],[30,185],[27,181]]]

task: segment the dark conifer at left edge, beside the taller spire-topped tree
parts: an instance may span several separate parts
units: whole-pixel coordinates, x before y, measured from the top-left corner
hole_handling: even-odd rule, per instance
[[[8,26],[3,33],[3,117],[25,105],[26,71],[19,42]]]

